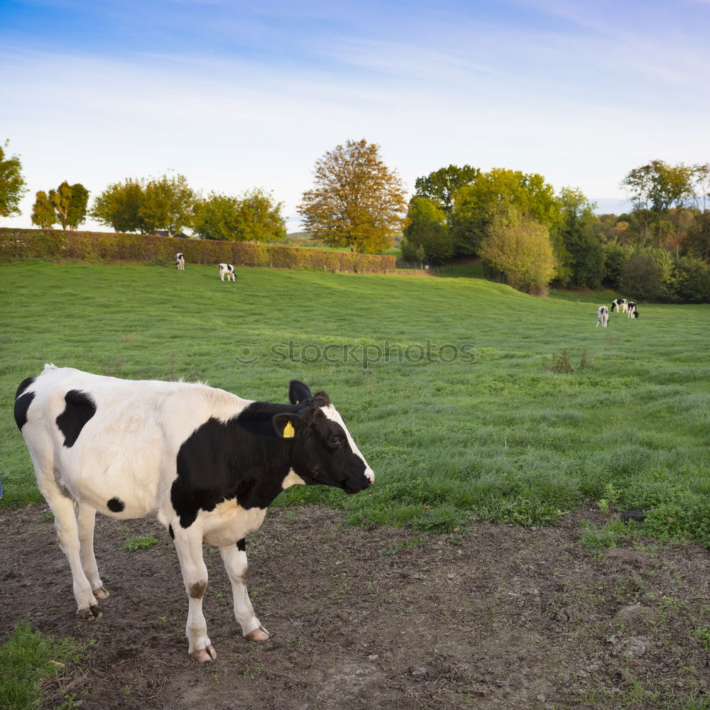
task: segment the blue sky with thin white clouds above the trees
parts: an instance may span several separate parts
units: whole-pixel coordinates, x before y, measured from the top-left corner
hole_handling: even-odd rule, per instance
[[[710,0],[0,0],[0,141],[31,192],[170,170],[283,202],[377,143],[413,190],[453,163],[624,209],[631,168],[710,160]],[[95,226],[91,222],[87,226]]]

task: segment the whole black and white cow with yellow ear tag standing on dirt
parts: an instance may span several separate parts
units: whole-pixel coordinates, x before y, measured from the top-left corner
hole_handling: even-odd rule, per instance
[[[94,558],[96,511],[157,518],[178,552],[189,599],[187,639],[198,661],[216,657],[202,597],[202,541],[219,547],[243,635],[269,637],[246,590],[244,536],[289,486],[357,493],[374,481],[328,395],[302,382],[290,404],[242,399],[202,383],[132,381],[45,365],[18,388],[15,420],[72,570],[78,615],[109,596]]]

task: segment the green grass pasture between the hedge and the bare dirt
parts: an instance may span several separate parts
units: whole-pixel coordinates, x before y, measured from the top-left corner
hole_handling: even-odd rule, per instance
[[[606,293],[238,273],[235,284],[206,266],[1,267],[0,503],[40,500],[12,402],[54,362],[253,399],[285,401],[291,378],[328,391],[376,484],[357,496],[295,486],[278,504],[452,532],[552,523],[591,499],[650,508],[643,532],[710,545],[710,306],[640,305],[638,320],[612,314],[602,329]]]

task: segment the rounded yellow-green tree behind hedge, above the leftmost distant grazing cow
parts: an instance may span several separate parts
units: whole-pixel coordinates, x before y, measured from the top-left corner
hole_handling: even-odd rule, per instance
[[[146,183],[138,215],[148,231],[165,229],[173,236],[192,224],[196,201],[185,175],[163,175]]]

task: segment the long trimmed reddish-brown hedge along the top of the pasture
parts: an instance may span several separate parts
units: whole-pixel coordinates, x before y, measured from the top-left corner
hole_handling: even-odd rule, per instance
[[[234,266],[312,268],[344,273],[390,273],[395,270],[395,257],[383,254],[320,251],[241,241],[181,239],[155,234],[0,228],[0,262],[22,258],[42,258],[50,261],[76,259],[94,263],[172,262],[178,252],[185,254],[188,264],[224,262]]]

